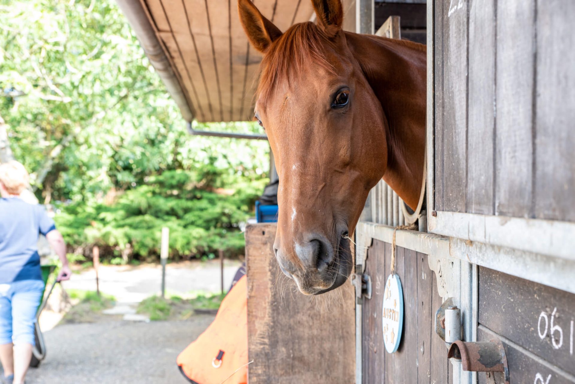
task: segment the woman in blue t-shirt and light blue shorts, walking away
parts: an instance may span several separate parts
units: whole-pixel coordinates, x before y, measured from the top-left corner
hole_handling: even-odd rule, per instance
[[[62,261],[58,278],[70,279],[62,234],[43,207],[19,197],[28,179],[19,162],[0,164],[0,362],[7,384],[24,383],[32,358],[34,317],[44,290],[36,248],[39,234]]]

